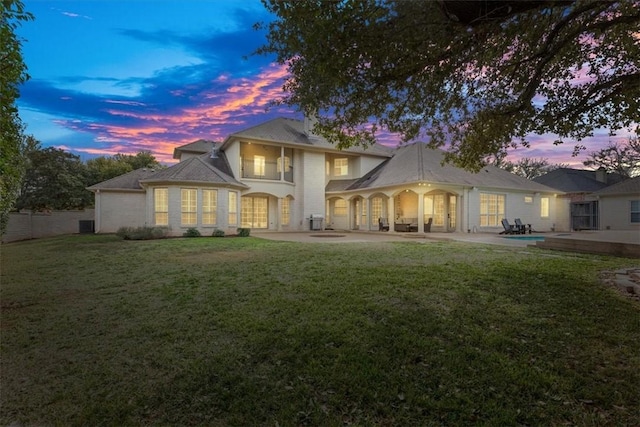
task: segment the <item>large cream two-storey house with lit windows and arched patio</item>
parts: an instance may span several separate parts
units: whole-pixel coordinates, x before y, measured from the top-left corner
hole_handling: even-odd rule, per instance
[[[304,231],[500,232],[502,218],[557,229],[561,192],[502,169],[443,165],[423,143],[338,150],[308,121],[279,118],[175,149],[179,163],[89,187],[96,232],[122,226]]]

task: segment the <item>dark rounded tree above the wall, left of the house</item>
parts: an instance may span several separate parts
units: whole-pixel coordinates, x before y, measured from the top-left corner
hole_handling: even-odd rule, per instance
[[[92,204],[87,167],[80,157],[58,148],[30,147],[16,208],[33,211],[82,209]]]

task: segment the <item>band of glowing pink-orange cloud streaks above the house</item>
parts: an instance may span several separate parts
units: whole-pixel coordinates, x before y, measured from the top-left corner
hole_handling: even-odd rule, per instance
[[[140,150],[151,151],[165,163],[175,162],[173,150],[199,138],[223,140],[248,119],[265,113],[267,105],[282,95],[283,79],[287,70],[277,64],[263,69],[255,78],[233,79],[221,75],[214,80],[226,89],[215,92],[204,90],[193,95],[195,107],[171,112],[146,110],[145,104],[137,101],[107,100],[113,106],[106,112],[113,118],[129,119],[128,124],[85,123],[79,120],[58,121],[58,124],[80,132],[95,135],[95,141],[103,148],[77,149],[93,155],[132,154]],[[186,91],[174,91],[183,96]],[[141,107],[139,111],[120,109]]]

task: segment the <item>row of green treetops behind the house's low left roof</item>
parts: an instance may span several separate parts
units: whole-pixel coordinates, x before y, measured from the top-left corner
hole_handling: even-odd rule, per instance
[[[146,150],[140,151],[135,155],[118,153],[112,157],[96,157],[95,159],[87,160],[88,185],[97,184],[140,168],[161,167],[162,165],[156,160],[155,156]]]

